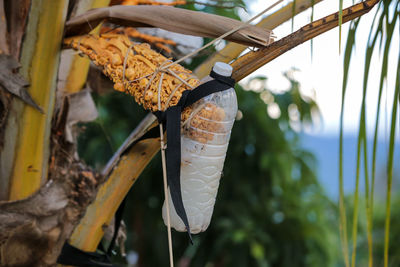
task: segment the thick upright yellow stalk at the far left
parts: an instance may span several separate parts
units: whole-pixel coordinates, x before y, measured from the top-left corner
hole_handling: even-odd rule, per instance
[[[10,200],[29,196],[47,177],[51,118],[67,9],[68,0],[31,3],[21,73],[29,81],[28,91],[44,114],[30,106],[13,103],[12,108],[17,112],[9,118],[6,128],[14,135],[6,141],[14,142],[14,150],[6,152],[13,153],[12,159],[15,159],[10,164]],[[17,125],[10,125],[15,123],[13,120]]]

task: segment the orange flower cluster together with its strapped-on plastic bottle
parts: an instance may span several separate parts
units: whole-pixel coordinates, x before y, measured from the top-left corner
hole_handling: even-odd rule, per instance
[[[218,62],[199,81],[190,70],[120,34],[77,36],[65,44],[87,55],[167,130],[171,226],[199,233],[210,224],[230,132],[237,113],[232,67]],[[166,202],[162,217],[167,225]]]

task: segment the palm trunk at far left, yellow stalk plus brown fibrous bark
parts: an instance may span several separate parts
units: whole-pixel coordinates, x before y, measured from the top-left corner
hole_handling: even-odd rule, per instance
[[[13,63],[2,64],[9,80],[2,75],[0,82],[0,266],[55,265],[102,182],[66,139],[70,97],[62,95],[54,109],[63,27],[73,7],[68,2],[0,1],[0,53]],[[26,85],[44,114],[20,100]]]

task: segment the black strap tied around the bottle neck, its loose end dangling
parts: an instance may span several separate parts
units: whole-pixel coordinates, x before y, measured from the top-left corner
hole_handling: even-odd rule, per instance
[[[169,107],[165,112],[155,112],[160,123],[166,123],[167,130],[167,181],[175,211],[181,218],[188,231],[190,242],[193,244],[189,221],[182,201],[180,182],[181,165],[181,113],[183,108],[194,104],[210,94],[232,88],[235,81],[230,77],[211,72],[215,80],[203,83],[193,90],[186,90],[176,106]]]

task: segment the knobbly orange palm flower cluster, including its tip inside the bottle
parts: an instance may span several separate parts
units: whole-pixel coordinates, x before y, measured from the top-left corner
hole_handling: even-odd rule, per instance
[[[175,106],[183,91],[191,90],[200,83],[190,70],[179,64],[168,66],[168,70],[179,78],[166,69],[161,71],[172,62],[171,59],[152,50],[149,44],[132,43],[124,34],[74,36],[66,38],[64,44],[101,66],[103,73],[113,81],[115,90],[134,96],[135,101],[146,110],[164,111]],[[182,121],[186,121],[191,113],[191,107],[185,108]],[[218,132],[214,128],[218,128],[219,124],[210,125],[210,120],[222,120],[223,117],[223,109],[208,104],[190,118],[190,125]],[[194,133],[190,128],[186,133],[202,143],[212,139],[212,134]]]

